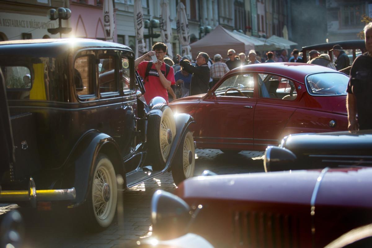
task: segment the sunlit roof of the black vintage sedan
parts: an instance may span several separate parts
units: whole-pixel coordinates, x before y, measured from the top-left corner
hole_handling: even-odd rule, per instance
[[[72,48],[74,50],[78,50],[80,48],[118,48],[124,49],[129,52],[133,52],[131,48],[128,46],[108,42],[108,41],[100,41],[95,39],[81,39],[81,38],[69,38],[69,39],[29,39],[29,40],[15,40],[15,41],[1,41],[0,42],[0,49],[7,49],[7,48],[27,48],[32,47],[35,49],[44,49],[48,48]]]

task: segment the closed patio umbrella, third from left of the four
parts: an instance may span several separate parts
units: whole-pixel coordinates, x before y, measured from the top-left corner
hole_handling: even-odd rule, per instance
[[[160,15],[160,34],[161,39],[168,47],[168,55],[173,58],[172,45],[170,39],[172,38],[172,27],[170,26],[170,12],[169,1],[161,0],[161,15]]]

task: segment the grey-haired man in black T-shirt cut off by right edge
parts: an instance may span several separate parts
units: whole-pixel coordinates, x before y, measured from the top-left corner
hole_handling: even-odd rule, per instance
[[[372,129],[372,22],[363,31],[367,52],[354,60],[346,90],[349,131]]]

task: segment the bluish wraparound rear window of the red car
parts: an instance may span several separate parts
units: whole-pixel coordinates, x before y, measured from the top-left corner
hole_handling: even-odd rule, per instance
[[[307,88],[312,95],[344,95],[349,77],[343,73],[317,73],[306,78]]]

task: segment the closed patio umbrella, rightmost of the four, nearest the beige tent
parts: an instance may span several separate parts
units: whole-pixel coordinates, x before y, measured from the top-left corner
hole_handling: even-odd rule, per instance
[[[177,34],[182,45],[182,56],[191,55],[189,22],[185,5],[182,2],[177,5]]]

